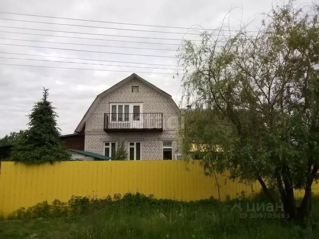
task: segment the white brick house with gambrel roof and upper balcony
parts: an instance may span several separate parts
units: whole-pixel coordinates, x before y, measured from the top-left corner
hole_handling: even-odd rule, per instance
[[[132,74],[96,97],[75,132],[85,151],[112,156],[125,141],[130,160],[175,159],[179,108],[172,97]]]

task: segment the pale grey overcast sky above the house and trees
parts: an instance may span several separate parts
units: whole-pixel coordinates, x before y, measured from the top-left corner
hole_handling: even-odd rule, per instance
[[[191,27],[192,25],[201,25],[206,29],[216,28],[220,25],[220,21],[225,14],[234,7],[240,7],[232,11],[230,23],[233,27],[239,25],[237,19],[241,18],[244,23],[248,23],[256,17],[258,13],[269,11],[271,5],[278,1],[264,0],[224,0],[224,1],[207,1],[207,0],[184,0],[184,1],[105,1],[105,0],[1,0],[0,11],[23,13],[41,16],[54,16],[62,18],[78,18],[88,20],[98,20],[107,22],[120,22],[131,24],[144,25],[162,25],[176,27]],[[66,19],[42,18],[23,15],[13,15],[0,13],[0,18],[9,18],[17,20],[73,24],[73,25],[90,25],[100,27],[138,29],[150,31],[164,32],[179,32],[186,33],[187,29],[161,28],[150,26],[134,26],[134,25],[119,25],[111,23],[84,22]],[[138,32],[127,30],[114,30],[93,27],[80,27],[68,25],[52,25],[44,23],[30,23],[22,21],[12,21],[0,19],[0,38],[20,39],[20,40],[5,40],[0,39],[2,44],[24,45],[24,46],[40,46],[54,47],[64,49],[77,49],[86,51],[98,52],[113,52],[126,54],[147,54],[156,56],[171,56],[169,57],[154,57],[154,56],[136,56],[125,54],[108,54],[108,53],[92,53],[70,50],[47,49],[37,47],[10,46],[0,45],[0,63],[6,64],[22,64],[22,65],[37,65],[37,66],[53,66],[67,68],[86,68],[86,69],[107,69],[119,70],[128,72],[112,72],[112,71],[94,71],[94,70],[76,70],[76,69],[54,69],[28,66],[8,66],[0,65],[0,137],[11,131],[19,131],[26,129],[28,119],[26,115],[32,109],[34,102],[41,98],[42,86],[49,88],[49,100],[56,107],[56,112],[59,114],[58,125],[62,130],[62,134],[71,134],[77,127],[79,121],[83,117],[88,107],[93,102],[96,95],[105,91],[115,83],[121,81],[131,73],[135,72],[150,72],[137,73],[145,80],[153,83],[162,90],[172,95],[176,103],[179,103],[180,80],[173,79],[174,70],[170,69],[148,69],[148,68],[129,68],[116,66],[99,66],[87,64],[59,63],[59,62],[44,62],[6,59],[1,57],[41,59],[48,61],[68,61],[68,62],[84,62],[95,64],[112,64],[112,65],[130,65],[144,67],[161,67],[174,68],[171,66],[152,66],[129,63],[115,62],[98,62],[87,60],[74,60],[65,58],[54,58],[52,56],[70,57],[70,58],[85,58],[104,61],[120,61],[120,62],[139,62],[153,63],[164,65],[176,65],[176,51],[164,50],[145,50],[145,49],[129,49],[115,47],[96,47],[96,46],[80,46],[70,44],[58,44],[51,42],[64,43],[79,43],[103,46],[120,46],[120,47],[144,47],[158,49],[176,50],[176,45],[164,44],[146,44],[132,42],[116,42],[105,40],[87,40],[65,37],[39,36],[30,34],[18,33],[35,33],[47,34],[55,36],[71,36],[84,38],[100,38],[108,40],[126,40],[126,41],[143,41],[155,43],[180,44],[181,40],[159,40],[159,39],[143,39],[130,37],[112,37],[95,34],[136,36],[136,37],[152,37],[152,38],[170,38],[182,39],[181,34],[174,33],[153,33],[153,32]],[[10,27],[22,27],[43,29],[50,31],[26,30]],[[15,32],[15,33],[4,33]],[[76,33],[59,33],[54,31],[64,32],[81,32],[91,34],[76,34]],[[194,33],[194,32],[192,32]],[[196,35],[185,35],[185,39],[196,39]],[[21,41],[38,40],[49,41],[50,43]],[[197,38],[198,39],[198,38]],[[28,56],[18,54],[4,53],[20,53],[33,54],[41,56]],[[166,72],[170,74],[153,74],[154,72]]]

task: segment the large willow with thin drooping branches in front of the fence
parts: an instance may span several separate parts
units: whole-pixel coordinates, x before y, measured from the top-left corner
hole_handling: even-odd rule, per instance
[[[182,152],[202,151],[206,172],[258,180],[274,202],[276,187],[290,219],[308,218],[319,169],[318,7],[292,2],[265,15],[258,33],[181,47],[184,99],[193,106],[181,127]],[[223,34],[223,33],[221,33]],[[299,206],[294,190],[304,189]]]

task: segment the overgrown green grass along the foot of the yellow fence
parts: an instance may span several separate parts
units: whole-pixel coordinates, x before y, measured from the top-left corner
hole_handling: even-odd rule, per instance
[[[243,199],[241,202],[260,199]],[[316,222],[302,229],[279,218],[240,218],[236,201],[176,202],[141,195],[111,201],[75,199],[71,207],[39,204],[0,220],[0,238],[315,238]],[[319,214],[319,199],[313,201]],[[316,215],[314,215],[314,218]]]

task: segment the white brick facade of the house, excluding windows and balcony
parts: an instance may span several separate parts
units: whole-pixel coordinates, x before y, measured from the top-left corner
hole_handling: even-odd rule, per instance
[[[138,86],[139,92],[132,93],[132,86]],[[143,113],[163,113],[163,132],[160,133],[106,133],[104,132],[104,113],[110,112],[110,103],[143,103]],[[178,109],[170,98],[155,91],[148,85],[133,79],[100,99],[85,122],[85,150],[103,154],[102,139],[124,140],[143,138],[141,141],[141,159],[163,159],[162,141],[158,138],[177,139]],[[127,148],[128,141],[125,142]],[[176,141],[173,141],[173,158],[176,154]]]

